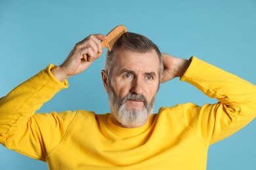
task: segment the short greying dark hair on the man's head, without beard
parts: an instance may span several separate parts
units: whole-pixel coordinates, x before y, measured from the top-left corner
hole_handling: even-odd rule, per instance
[[[127,32],[124,33],[114,44],[112,51],[107,52],[106,54],[106,59],[105,59],[105,64],[104,64],[104,70],[106,73],[106,76],[108,76],[108,80],[110,80],[112,76],[112,69],[116,65],[116,58],[115,54],[119,48],[125,48],[126,50],[131,50],[133,52],[150,52],[151,50],[156,50],[158,54],[158,58],[160,61],[160,66],[159,66],[159,78],[161,78],[161,73],[163,73],[163,59],[161,56],[161,52],[150,39],[145,37],[144,35],[139,35],[137,33],[131,33]]]

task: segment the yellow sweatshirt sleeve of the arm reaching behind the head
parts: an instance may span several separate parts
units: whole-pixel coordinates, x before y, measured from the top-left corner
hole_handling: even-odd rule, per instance
[[[181,77],[205,95],[216,98],[214,105],[178,106],[185,124],[207,144],[232,135],[256,116],[256,86],[198,58]]]

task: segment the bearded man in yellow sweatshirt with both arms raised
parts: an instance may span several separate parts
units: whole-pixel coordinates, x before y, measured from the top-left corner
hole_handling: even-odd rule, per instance
[[[253,84],[205,63],[161,54],[149,39],[125,33],[102,71],[111,113],[86,110],[35,114],[67,78],[102,53],[104,35],[77,43],[62,65],[49,65],[0,101],[0,142],[47,161],[49,169],[205,169],[210,144],[253,118]],[[83,54],[86,54],[85,57]],[[152,114],[160,82],[175,77],[196,86],[214,105],[162,107]]]

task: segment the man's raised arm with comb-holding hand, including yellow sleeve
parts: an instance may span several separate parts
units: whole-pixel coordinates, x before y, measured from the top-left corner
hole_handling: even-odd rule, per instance
[[[35,114],[43,103],[68,87],[66,78],[77,75],[89,65],[88,60],[102,52],[104,35],[91,35],[78,42],[62,65],[49,65],[0,99],[0,143],[26,156],[44,160],[66,134],[75,112]],[[55,139],[55,140],[53,140]]]

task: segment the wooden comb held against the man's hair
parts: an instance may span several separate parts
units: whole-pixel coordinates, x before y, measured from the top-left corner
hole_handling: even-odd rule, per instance
[[[106,39],[104,39],[103,41],[101,41],[102,44],[102,50],[107,47],[108,50],[111,52],[115,42],[124,34],[127,32],[127,29],[124,25],[118,25],[117,27],[114,27],[114,29],[112,29],[108,35],[106,35]],[[101,54],[97,54],[97,56],[95,58],[93,58],[90,61],[93,61],[95,59],[97,59]],[[86,61],[88,61],[88,56],[87,54],[83,54],[83,58],[85,58]]]

